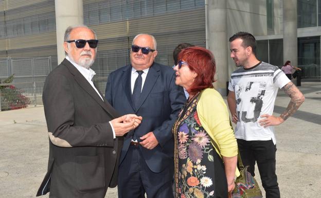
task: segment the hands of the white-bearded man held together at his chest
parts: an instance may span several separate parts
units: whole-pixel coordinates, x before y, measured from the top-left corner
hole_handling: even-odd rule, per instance
[[[123,115],[111,121],[116,136],[123,136],[130,130],[135,129],[141,122],[142,117],[134,114]]]

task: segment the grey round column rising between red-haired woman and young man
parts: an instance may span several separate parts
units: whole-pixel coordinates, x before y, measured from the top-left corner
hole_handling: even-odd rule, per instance
[[[228,81],[228,39],[226,0],[205,0],[206,48],[216,60],[214,87],[222,96],[226,96]]]

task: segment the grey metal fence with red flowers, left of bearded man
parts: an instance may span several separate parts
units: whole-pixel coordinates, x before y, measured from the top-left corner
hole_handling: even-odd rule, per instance
[[[50,70],[51,57],[0,59],[1,82],[14,75],[12,83],[0,84],[0,111],[42,105],[42,89]]]

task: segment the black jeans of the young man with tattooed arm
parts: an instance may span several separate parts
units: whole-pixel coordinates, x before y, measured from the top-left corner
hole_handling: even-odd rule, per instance
[[[268,141],[246,141],[237,139],[239,151],[244,166],[253,176],[255,161],[257,163],[262,186],[265,190],[266,198],[279,198],[280,190],[275,174],[275,153],[276,145],[272,140]]]

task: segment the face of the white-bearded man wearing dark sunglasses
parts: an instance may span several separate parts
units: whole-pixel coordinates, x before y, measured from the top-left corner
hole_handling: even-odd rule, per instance
[[[95,34],[88,28],[78,27],[70,32],[69,41],[72,40],[94,40]],[[76,43],[64,43],[64,48],[68,57],[72,59],[75,63],[85,68],[90,68],[96,58],[96,49],[91,48],[88,43],[85,44],[83,48],[77,48]]]

